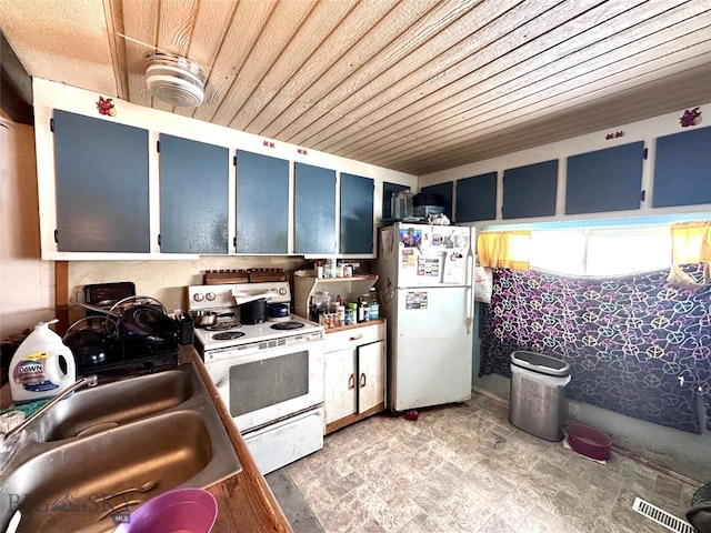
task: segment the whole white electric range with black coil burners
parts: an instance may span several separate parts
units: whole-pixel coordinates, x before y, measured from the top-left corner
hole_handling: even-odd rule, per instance
[[[196,348],[262,474],[323,447],[323,326],[294,314],[240,322],[238,302],[291,304],[289,282],[190,285],[189,311],[214,311]]]

